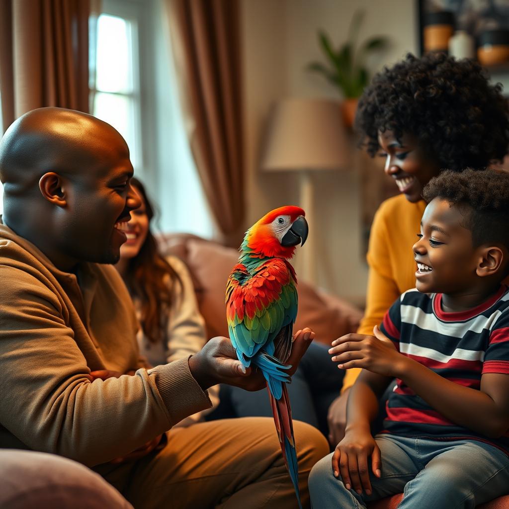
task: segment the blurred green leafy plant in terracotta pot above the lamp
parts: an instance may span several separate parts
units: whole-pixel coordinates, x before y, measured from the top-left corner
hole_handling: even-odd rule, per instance
[[[323,30],[319,30],[318,41],[327,63],[311,62],[307,66],[309,71],[322,74],[340,90],[344,97],[343,118],[349,127],[353,125],[358,99],[370,80],[366,69],[367,56],[374,51],[385,49],[389,43],[387,37],[376,36],[367,39],[357,48],[363,17],[364,11],[354,13],[347,40],[337,50],[333,48],[330,37]]]

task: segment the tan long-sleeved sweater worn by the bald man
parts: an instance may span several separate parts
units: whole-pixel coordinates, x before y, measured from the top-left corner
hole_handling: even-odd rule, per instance
[[[0,223],[0,447],[94,466],[210,407],[187,358],[147,371],[137,327],[113,267],[62,272]],[[91,383],[101,369],[137,371]]]

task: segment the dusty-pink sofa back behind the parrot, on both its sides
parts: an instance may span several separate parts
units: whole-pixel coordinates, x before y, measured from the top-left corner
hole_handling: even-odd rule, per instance
[[[224,292],[238,251],[188,234],[166,234],[158,240],[164,256],[174,254],[189,268],[208,337],[228,335]],[[359,308],[305,282],[298,284],[298,292],[295,330],[310,327],[316,333],[315,341],[330,345],[336,337],[357,329],[362,317]]]

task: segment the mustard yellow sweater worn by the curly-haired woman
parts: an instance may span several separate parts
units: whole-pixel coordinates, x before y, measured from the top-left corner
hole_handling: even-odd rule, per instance
[[[412,246],[420,232],[420,221],[426,203],[410,203],[403,194],[380,205],[371,227],[367,263],[366,310],[357,330],[373,334],[393,302],[407,290],[415,288],[416,265]],[[347,370],[343,390],[351,387],[360,369]]]

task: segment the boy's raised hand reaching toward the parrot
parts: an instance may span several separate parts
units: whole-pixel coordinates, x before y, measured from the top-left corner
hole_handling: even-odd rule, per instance
[[[401,355],[392,341],[375,326],[375,336],[347,334],[332,342],[329,353],[337,367],[347,370],[362,367],[386,377],[398,377],[403,372],[407,357]]]

